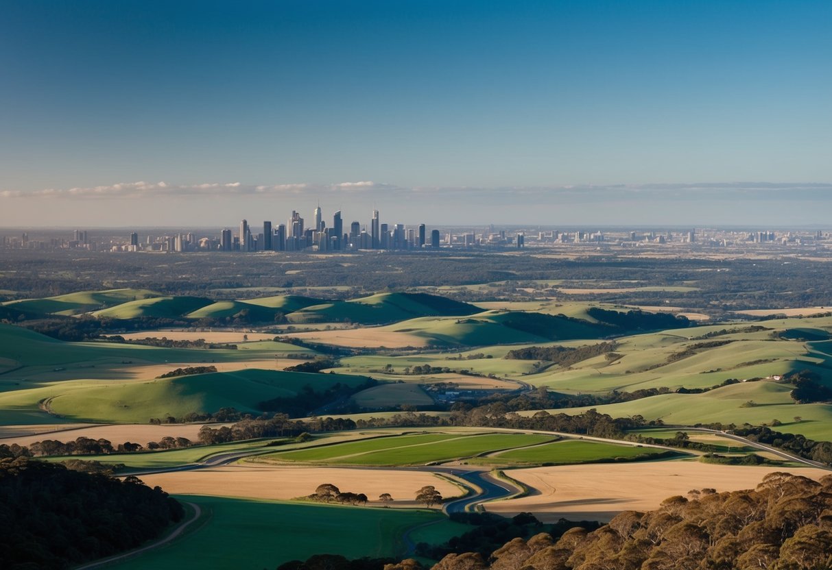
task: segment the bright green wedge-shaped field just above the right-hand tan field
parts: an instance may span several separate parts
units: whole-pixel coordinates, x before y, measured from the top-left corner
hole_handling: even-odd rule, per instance
[[[660,455],[662,453],[664,453],[663,450],[649,447],[615,445],[580,440],[561,440],[519,450],[503,451],[503,453],[489,455],[483,460],[496,464],[573,464],[592,463],[593,461],[617,458],[632,459],[639,455],[646,455],[644,459],[651,459],[651,455]]]

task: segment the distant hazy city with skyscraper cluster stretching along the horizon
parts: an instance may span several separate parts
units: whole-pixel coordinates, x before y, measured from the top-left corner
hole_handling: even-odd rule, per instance
[[[495,228],[493,225],[479,232],[472,228],[431,228],[425,224],[382,224],[379,210],[374,209],[368,224],[353,221],[344,228],[339,211],[334,212],[331,224],[324,219],[318,206],[307,222],[293,210],[285,224],[264,221],[252,225],[240,221],[234,229],[225,228],[219,233],[205,235],[210,230],[187,232],[133,231],[119,235],[123,230],[99,230],[92,236],[89,230],[76,229],[71,236],[60,237],[58,230],[31,230],[17,235],[0,236],[0,248],[57,250],[81,249],[97,252],[305,252],[338,253],[360,250],[438,250],[441,248],[490,248],[521,249],[528,247],[557,247],[562,245],[594,246],[597,248],[618,246],[639,248],[650,245],[696,244],[710,248],[730,248],[750,244],[769,246],[810,247],[827,249],[832,234],[822,230],[812,231],[750,231],[747,229],[688,229],[688,230],[633,230],[615,228],[608,231],[581,231],[574,229]],[[30,235],[31,233],[31,235]]]

